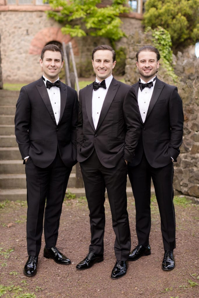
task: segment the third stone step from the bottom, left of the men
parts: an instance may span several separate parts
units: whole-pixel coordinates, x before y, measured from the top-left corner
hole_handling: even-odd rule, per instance
[[[0,160],[0,174],[24,174],[23,160]]]

